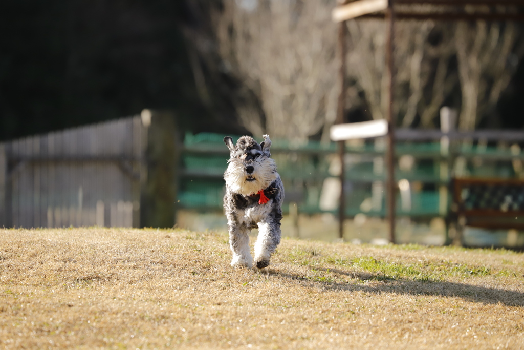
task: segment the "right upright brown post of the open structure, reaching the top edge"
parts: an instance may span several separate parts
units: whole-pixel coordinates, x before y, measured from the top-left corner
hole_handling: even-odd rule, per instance
[[[389,219],[389,241],[395,243],[395,118],[393,115],[393,80],[394,80],[394,57],[393,40],[395,30],[394,0],[389,0],[386,12],[387,43],[386,43],[386,74],[388,77],[389,103],[386,111],[389,124],[388,147],[387,147],[387,197],[388,197],[388,219]]]

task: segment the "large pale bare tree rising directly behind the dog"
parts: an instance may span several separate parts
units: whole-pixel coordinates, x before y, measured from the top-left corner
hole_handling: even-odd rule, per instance
[[[295,141],[335,120],[333,2],[225,1],[213,14],[223,66],[259,99],[236,105],[254,134]]]

